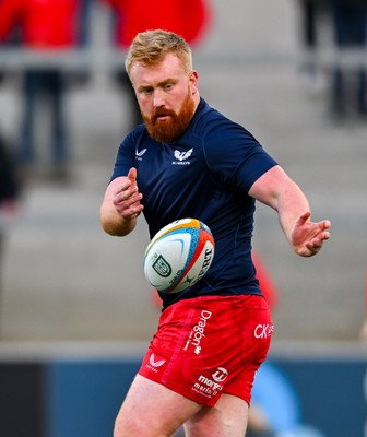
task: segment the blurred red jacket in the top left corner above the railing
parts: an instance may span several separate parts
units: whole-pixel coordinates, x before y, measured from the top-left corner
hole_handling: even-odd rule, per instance
[[[67,49],[78,43],[81,0],[0,0],[0,42],[19,28],[23,46]]]

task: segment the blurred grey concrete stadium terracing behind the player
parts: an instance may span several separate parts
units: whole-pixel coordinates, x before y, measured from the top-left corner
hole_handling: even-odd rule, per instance
[[[285,167],[307,193],[315,220],[332,222],[332,238],[323,251],[300,259],[288,247],[276,215],[258,208],[254,248],[280,291],[274,354],[281,361],[291,356],[292,362],[305,350],[316,359],[338,353],[342,362],[352,356],[365,366],[367,353],[358,339],[366,316],[366,119],[335,122],[330,117],[328,56],[321,62],[321,83],[316,87],[307,82],[297,0],[212,4],[213,26],[194,51],[202,96],[248,128]],[[327,51],[329,24],[325,19]],[[142,271],[149,241],[143,218],[138,232],[123,240],[105,235],[98,223],[129,119],[129,107],[123,107],[108,76],[106,25],[106,12],[96,5],[88,54],[92,80],[67,95],[74,180],[68,186],[28,184],[21,213],[8,232],[0,300],[4,363],[16,361],[17,354],[21,362],[59,355],[68,359],[75,354],[69,342],[79,342],[78,349],[99,344],[97,349],[107,350],[114,361],[123,356],[126,344],[138,347],[139,355],[155,330],[158,311]],[[22,63],[22,57],[10,59],[0,52],[1,60]],[[0,127],[16,139],[19,78],[14,74],[5,83],[0,86]],[[45,353],[40,343],[51,352]],[[54,355],[55,347],[61,352]],[[362,380],[357,395],[365,411]],[[360,434],[340,436],[359,437],[362,425],[358,429]],[[59,435],[72,437],[57,432],[52,437]]]

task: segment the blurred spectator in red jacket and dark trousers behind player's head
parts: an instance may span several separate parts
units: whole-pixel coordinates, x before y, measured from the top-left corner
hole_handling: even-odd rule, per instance
[[[127,50],[139,32],[152,28],[176,32],[191,44],[199,44],[211,21],[206,0],[103,0],[113,9],[113,39],[118,50]],[[125,106],[131,113],[128,129],[142,122],[134,91],[125,66],[115,71],[115,79],[127,96]]]

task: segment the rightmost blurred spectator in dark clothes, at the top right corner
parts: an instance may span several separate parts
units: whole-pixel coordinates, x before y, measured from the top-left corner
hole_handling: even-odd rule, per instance
[[[334,42],[339,50],[365,48],[367,42],[367,0],[332,0]],[[367,114],[366,101],[366,67],[360,64],[354,70],[353,84],[356,85],[355,95],[351,92],[352,84],[347,83],[347,71],[338,66],[333,73],[332,111],[336,116],[344,116],[350,97],[353,98],[359,114]],[[350,85],[350,86],[348,86]],[[351,95],[352,94],[352,95]]]

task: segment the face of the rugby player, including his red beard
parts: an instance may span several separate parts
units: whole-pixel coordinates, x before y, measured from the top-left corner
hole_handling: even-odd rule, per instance
[[[151,137],[159,142],[179,138],[199,103],[197,72],[187,73],[181,61],[168,54],[156,66],[134,64],[130,76]]]

